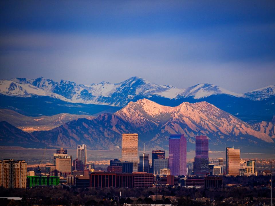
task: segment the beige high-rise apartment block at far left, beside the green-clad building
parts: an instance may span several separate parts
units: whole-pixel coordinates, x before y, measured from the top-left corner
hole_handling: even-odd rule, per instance
[[[26,188],[27,163],[25,160],[0,160],[0,186],[5,188]]]

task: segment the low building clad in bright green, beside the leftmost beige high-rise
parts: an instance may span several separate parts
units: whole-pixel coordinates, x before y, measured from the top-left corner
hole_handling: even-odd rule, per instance
[[[39,176],[27,176],[27,187],[59,185],[59,177],[42,176],[41,184]]]

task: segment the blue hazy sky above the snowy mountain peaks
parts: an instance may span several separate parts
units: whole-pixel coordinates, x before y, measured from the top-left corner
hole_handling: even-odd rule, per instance
[[[275,1],[1,1],[0,79],[275,84]]]

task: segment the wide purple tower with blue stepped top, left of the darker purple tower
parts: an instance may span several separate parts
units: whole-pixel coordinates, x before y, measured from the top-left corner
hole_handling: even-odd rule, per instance
[[[169,137],[169,169],[171,175],[186,174],[186,138],[183,134],[171,134]]]

